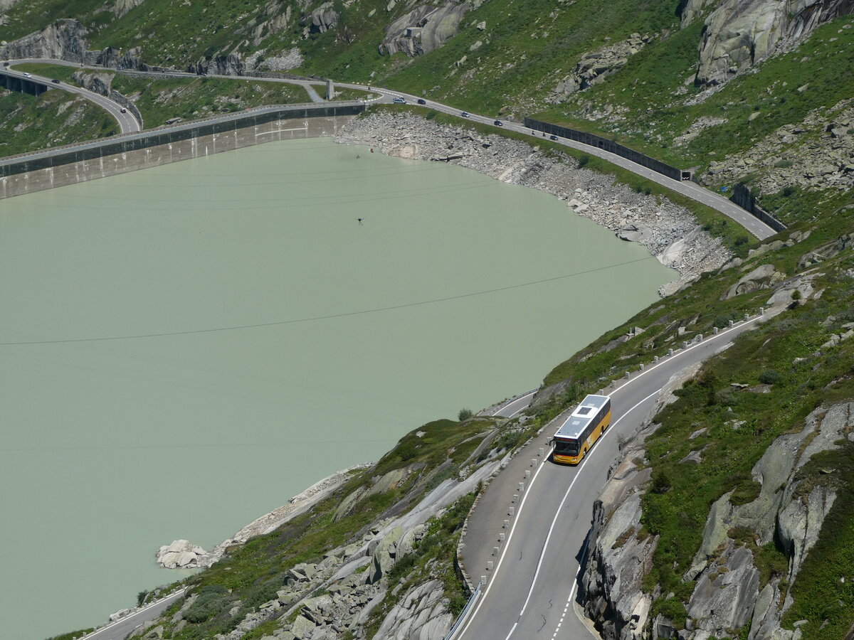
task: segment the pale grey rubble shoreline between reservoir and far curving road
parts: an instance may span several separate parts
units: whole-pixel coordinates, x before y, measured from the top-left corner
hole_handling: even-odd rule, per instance
[[[524,141],[437,125],[412,113],[377,112],[345,125],[336,142],[369,145],[398,158],[442,160],[556,195],[578,215],[615,231],[624,240],[640,242],[659,262],[675,269],[679,279],[659,288],[663,296],[732,257],[686,208],[639,194],[611,176],[577,166],[569,155],[546,155]]]

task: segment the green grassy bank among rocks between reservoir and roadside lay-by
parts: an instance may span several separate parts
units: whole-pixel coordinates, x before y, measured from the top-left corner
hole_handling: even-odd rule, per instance
[[[355,473],[333,495],[307,514],[298,516],[275,532],[232,547],[213,567],[186,579],[184,583],[189,586],[190,594],[200,594],[199,600],[204,602],[197,601],[192,613],[188,611],[190,617],[195,617],[180,631],[173,631],[175,623],[171,617],[183,601],[174,605],[161,618],[167,632],[165,637],[195,640],[231,631],[250,610],[276,596],[276,591],[284,587],[290,567],[300,562],[319,562],[324,550],[360,541],[371,522],[381,519],[395,504],[397,515],[412,508],[425,492],[429,492],[442,480],[455,476],[485,437],[498,431],[500,438],[496,442],[500,449],[502,445],[512,447],[518,444],[527,433],[514,428],[513,423],[498,428],[491,419],[483,418],[466,422],[438,420],[423,425],[418,431],[422,433],[421,436],[415,435],[415,432],[407,433],[376,467]],[[469,464],[481,463],[485,457],[484,454],[473,463],[469,461]],[[371,478],[405,467],[412,468],[413,473],[402,486],[365,497],[349,515],[337,521],[334,519],[336,508],[344,497],[360,487],[371,486]],[[447,594],[452,597],[451,606],[457,611],[465,602],[465,597],[453,573],[453,550],[459,538],[459,527],[472,500],[471,495],[460,498],[442,518],[433,521],[428,535],[418,545],[417,552],[402,562],[394,574],[395,580],[407,579],[412,584],[418,584],[429,573],[425,564],[438,561],[439,566],[434,574],[441,574],[442,581],[447,585]],[[232,616],[229,610],[238,601],[240,610]],[[389,597],[384,602],[384,608],[390,608],[394,602],[395,598]],[[281,614],[284,614],[284,609],[279,612]],[[270,620],[252,631],[248,638],[261,637],[283,621]],[[378,625],[380,621],[375,616],[371,624]]]

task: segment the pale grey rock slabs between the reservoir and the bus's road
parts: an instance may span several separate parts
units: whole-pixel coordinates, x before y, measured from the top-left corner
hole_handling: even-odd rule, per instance
[[[417,554],[419,543],[431,533],[436,535],[430,528],[431,523],[441,518],[450,504],[473,492],[478,483],[499,468],[500,463],[500,458],[493,458],[471,474],[443,480],[407,514],[374,522],[356,541],[325,550],[319,561],[301,562],[290,568],[284,585],[271,599],[245,614],[233,631],[216,637],[218,640],[239,640],[261,623],[278,620],[276,631],[264,636],[265,640],[333,640],[341,637],[344,631],[350,631],[352,637],[364,638],[371,613],[375,608],[386,605],[387,597],[393,597],[395,604],[388,608],[374,638],[442,640],[456,618],[444,596],[442,582],[430,577],[414,579],[412,584],[404,579],[389,582],[389,573],[398,562]],[[401,468],[377,476],[367,487],[344,497],[342,510],[359,509],[361,501],[400,485],[419,472],[418,468]],[[332,484],[326,489],[340,486],[340,481],[334,477],[327,480]],[[310,505],[306,503],[306,506]],[[290,511],[284,521],[300,513],[300,509]],[[271,524],[268,518],[261,518],[244,531],[251,538],[258,532],[276,529],[284,521],[273,517]],[[241,536],[238,534],[236,538]],[[224,545],[240,543],[241,540],[233,539]],[[216,557],[216,554],[205,557],[204,550],[186,540],[176,540],[158,551],[162,562],[175,567],[208,566]],[[411,566],[414,565],[412,562]],[[407,573],[401,575],[407,576]],[[402,589],[404,585],[407,586],[405,591]],[[173,616],[173,622],[177,623],[173,632],[183,628],[186,620],[193,620],[196,599],[196,595],[190,596],[184,607]],[[239,608],[236,606],[234,612]],[[150,622],[135,637],[163,637],[160,625],[158,620]]]

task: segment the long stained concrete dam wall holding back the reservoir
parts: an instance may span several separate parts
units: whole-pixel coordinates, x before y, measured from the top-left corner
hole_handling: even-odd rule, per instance
[[[332,136],[361,102],[266,107],[0,160],[0,198],[276,140]]]

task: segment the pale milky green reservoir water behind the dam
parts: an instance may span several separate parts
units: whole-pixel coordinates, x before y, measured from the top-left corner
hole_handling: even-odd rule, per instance
[[[357,218],[363,218],[359,224]],[[552,196],[329,139],[0,202],[0,618],[96,625],[673,273]]]

